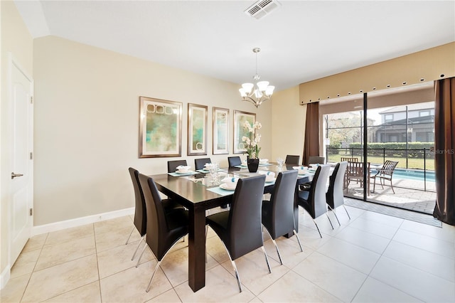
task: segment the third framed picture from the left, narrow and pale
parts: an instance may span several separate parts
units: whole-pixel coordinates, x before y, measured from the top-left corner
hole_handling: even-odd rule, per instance
[[[213,154],[229,154],[229,110],[213,107]]]

